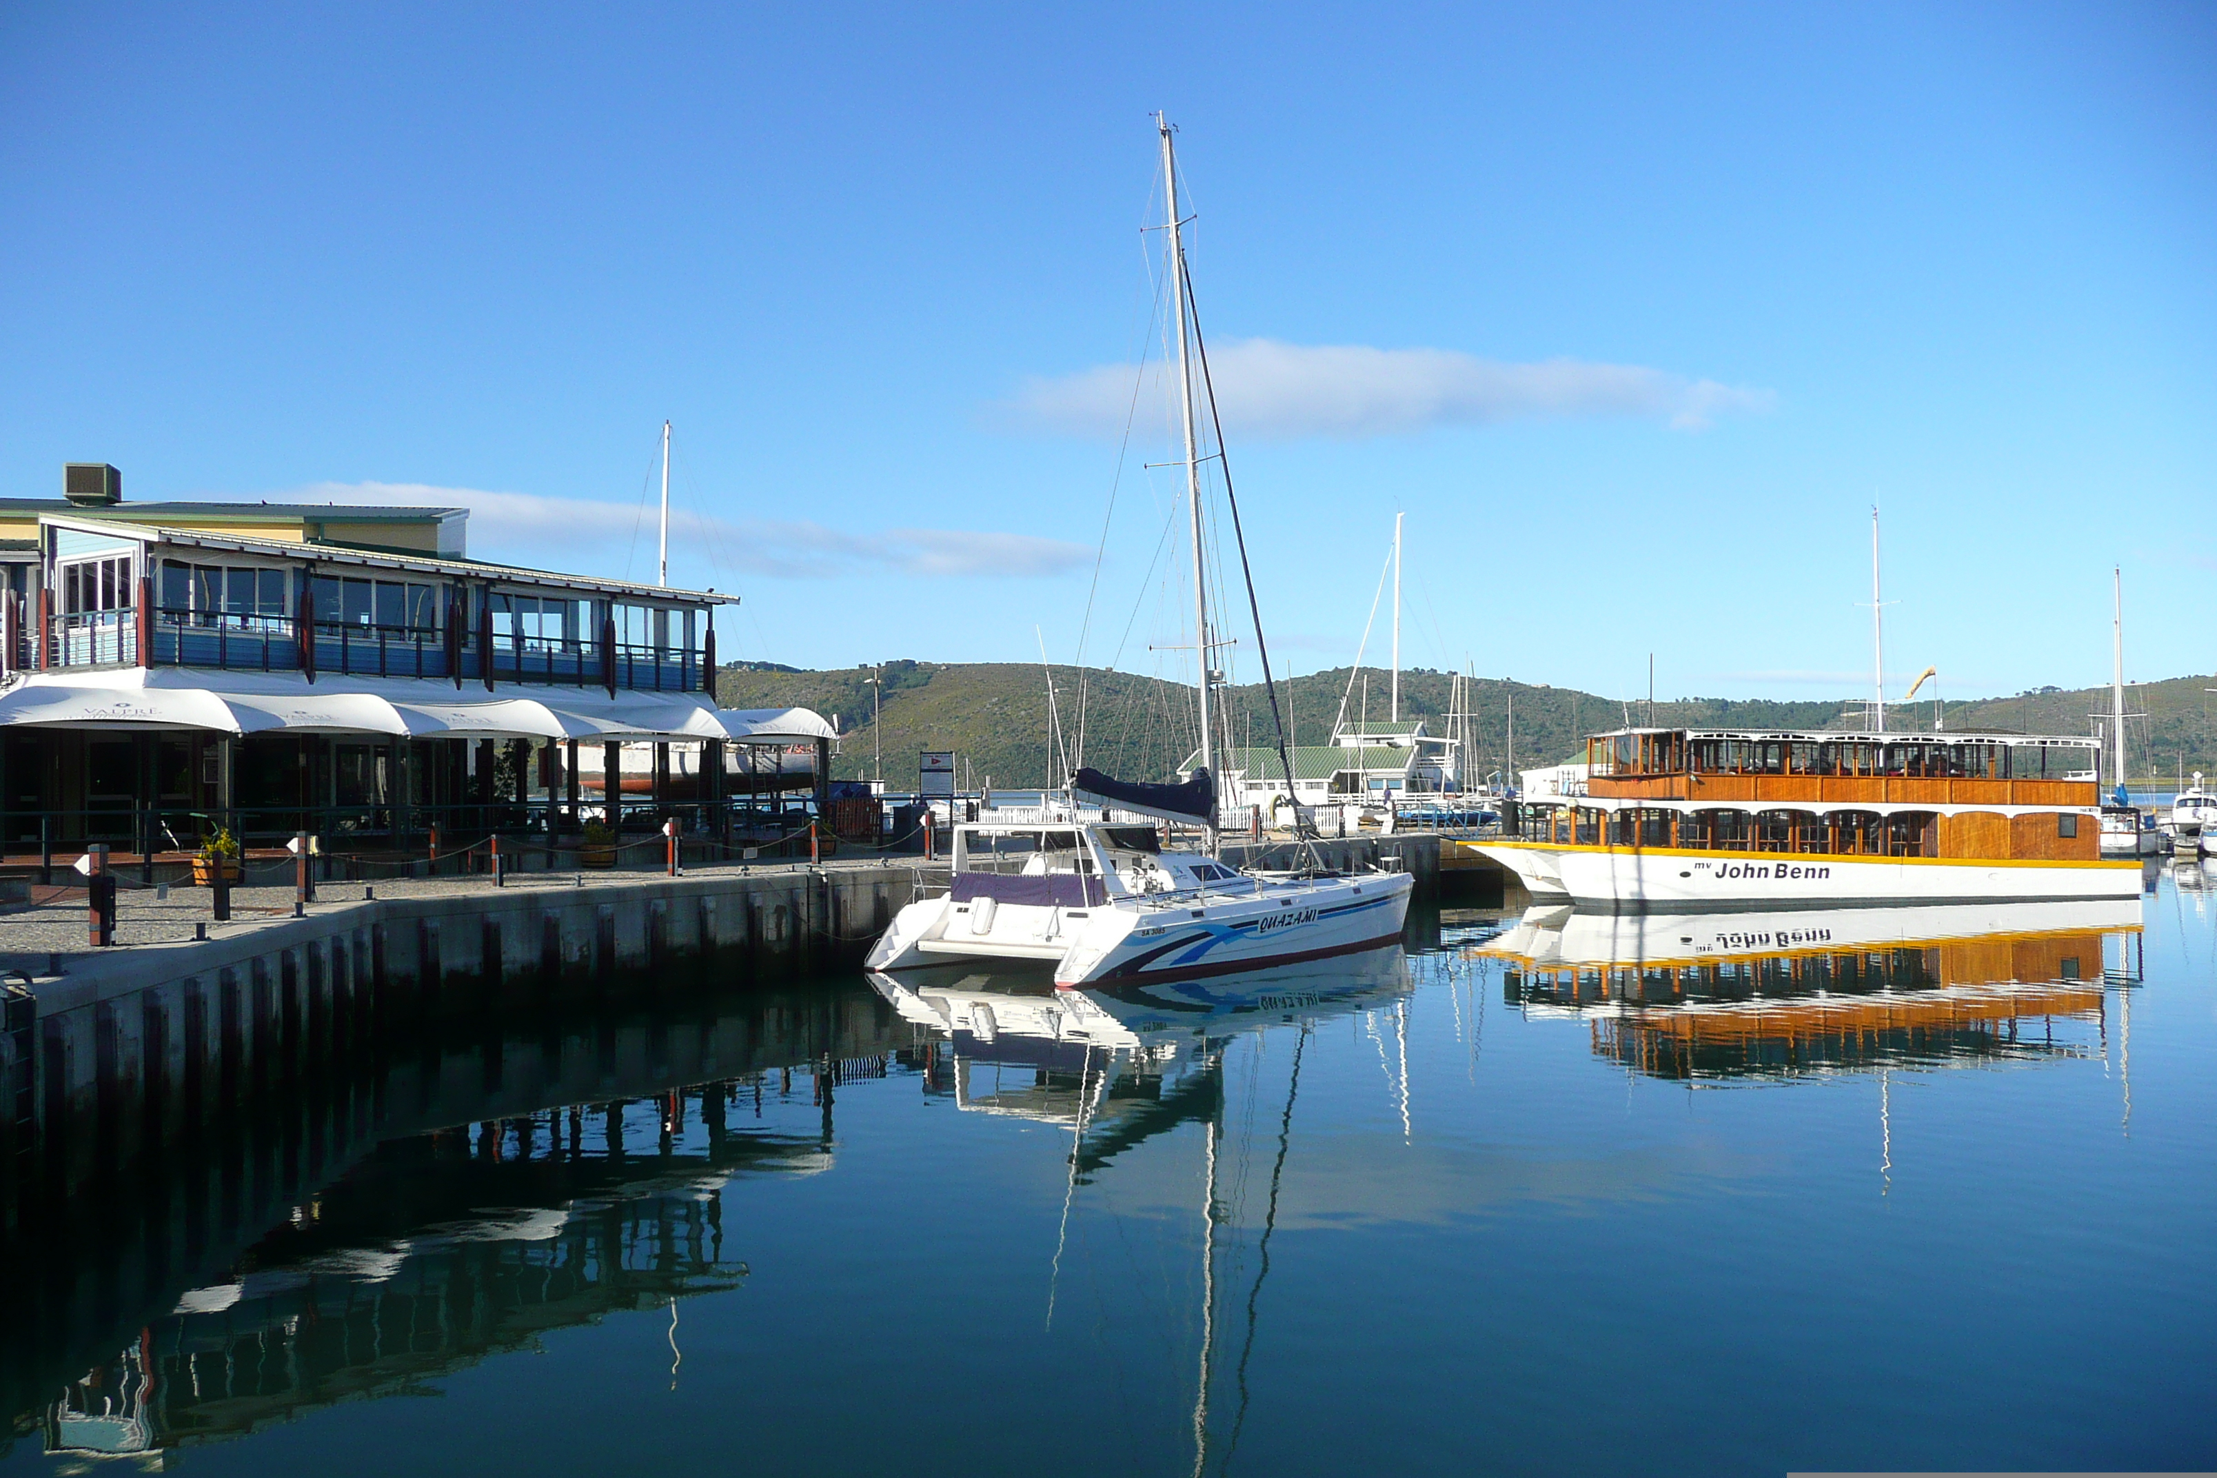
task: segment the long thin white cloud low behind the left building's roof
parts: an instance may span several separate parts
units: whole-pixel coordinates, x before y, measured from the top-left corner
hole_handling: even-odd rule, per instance
[[[652,572],[656,512],[623,503],[548,499],[532,492],[432,487],[426,483],[313,483],[282,494],[297,503],[370,507],[468,507],[470,554],[519,565],[614,574],[627,558]],[[1038,576],[1080,569],[1093,550],[1062,538],[969,530],[882,530],[851,534],[805,519],[712,519],[670,512],[672,552],[692,567],[780,581],[858,572],[920,576]]]

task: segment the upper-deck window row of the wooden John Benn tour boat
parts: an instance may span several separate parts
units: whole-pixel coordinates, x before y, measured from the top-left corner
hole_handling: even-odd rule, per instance
[[[1587,742],[1594,776],[1893,776],[2064,780],[2093,760],[2075,747],[1980,740],[1743,740],[1612,733]]]

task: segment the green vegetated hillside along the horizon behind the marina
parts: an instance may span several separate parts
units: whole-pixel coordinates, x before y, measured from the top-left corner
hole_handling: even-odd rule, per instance
[[[964,787],[1040,787],[1051,782],[1046,722],[1046,671],[1026,663],[887,663],[882,669],[882,722],[871,727],[869,667],[794,671],[767,665],[736,665],[718,674],[725,707],[807,707],[838,716],[842,742],[834,773],[871,776],[871,745],[889,787],[916,784],[916,756],[953,749]],[[1151,676],[1102,669],[1055,667],[1055,707],[1064,745],[1075,749],[1084,720],[1084,762],[1133,780],[1162,780],[1193,751],[1193,689]],[[1388,711],[1390,678],[1368,674],[1370,718]],[[1288,731],[1295,742],[1321,745],[1330,736],[1348,687],[1348,669],[1308,674],[1279,685]],[[2128,709],[2146,714],[2128,725],[2135,778],[2168,780],[2184,756],[2186,769],[2217,776],[2217,720],[2204,689],[2217,678],[2170,678],[2128,689]],[[1516,767],[1552,764],[1583,753],[1583,738],[1614,729],[1627,718],[1645,720],[1645,702],[1625,705],[1570,687],[1545,687],[1479,678],[1470,685],[1477,714],[1479,773],[1508,769],[1510,707],[1516,709]],[[1233,742],[1268,742],[1270,709],[1261,685],[1224,694]],[[1348,722],[1363,707],[1363,685],[1348,700]],[[2040,733],[2086,733],[2091,714],[2108,709],[2108,689],[2046,689],[2015,698],[1951,702],[1949,729],[2031,729]],[[1401,674],[1403,718],[1423,718],[1432,733],[1445,731],[1448,674],[1412,669]],[[1731,698],[1687,698],[1656,702],[1661,725],[1714,727],[1860,727],[1858,700],[1771,702]],[[1898,709],[1898,729],[1931,729],[1933,707]]]

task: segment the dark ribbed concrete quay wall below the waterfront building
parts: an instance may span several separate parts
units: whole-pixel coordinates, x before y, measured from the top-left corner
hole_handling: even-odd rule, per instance
[[[71,955],[11,991],[0,1022],[0,1232],[242,1104],[348,1092],[410,1035],[854,964],[933,886],[944,869],[878,862],[534,880]]]

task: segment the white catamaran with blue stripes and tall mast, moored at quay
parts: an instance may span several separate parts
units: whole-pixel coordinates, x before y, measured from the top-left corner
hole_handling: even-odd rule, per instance
[[[1219,862],[1217,751],[1210,716],[1206,530],[1197,412],[1217,425],[1206,348],[1193,310],[1184,222],[1177,215],[1177,162],[1171,124],[1157,117],[1168,206],[1171,308],[1177,315],[1177,388],[1184,432],[1186,499],[1193,536],[1195,654],[1199,667],[1199,767],[1184,784],[1135,784],[1077,769],[1062,804],[1022,824],[971,822],[953,829],[947,893],[909,904],[869,951],[871,971],[905,971],[951,959],[1035,959],[1053,964],[1064,986],[1097,982],[1191,979],[1264,966],[1350,955],[1399,940],[1414,880],[1401,871],[1335,875],[1321,866],[1235,871]],[[1224,445],[1213,452],[1224,470]],[[1239,505],[1224,492],[1239,536]],[[1253,603],[1253,578],[1248,581]],[[1270,654],[1257,629],[1264,685]],[[1277,707],[1275,687],[1273,709]],[[1286,791],[1284,727],[1279,756]],[[1100,807],[1089,811],[1086,807]],[[1108,807],[1206,833],[1204,851],[1168,851],[1151,824],[1117,822]],[[1299,818],[1297,809],[1297,818]],[[1306,822],[1299,822],[1306,829]],[[1315,853],[1310,851],[1315,860]]]

